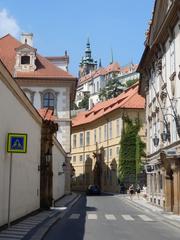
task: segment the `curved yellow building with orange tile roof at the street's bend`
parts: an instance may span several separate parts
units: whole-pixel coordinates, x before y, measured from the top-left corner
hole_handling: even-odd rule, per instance
[[[123,116],[139,118],[144,124],[144,114],[144,99],[138,94],[136,84],[72,120],[73,190],[86,190],[88,185],[97,184],[102,191],[119,192],[117,168]],[[140,135],[144,138],[143,128]]]

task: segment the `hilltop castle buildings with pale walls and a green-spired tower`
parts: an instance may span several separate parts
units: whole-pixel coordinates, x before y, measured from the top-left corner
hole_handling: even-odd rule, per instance
[[[125,84],[128,80],[138,79],[139,74],[136,72],[136,69],[137,65],[132,63],[120,67],[117,62],[113,62],[113,59],[107,67],[102,67],[101,60],[97,66],[97,61],[94,61],[91,56],[90,42],[88,40],[85,56],[82,58],[79,66],[76,105],[78,106],[84,96],[88,95],[90,109],[100,102],[100,90],[106,86],[108,81],[116,77],[117,81]]]

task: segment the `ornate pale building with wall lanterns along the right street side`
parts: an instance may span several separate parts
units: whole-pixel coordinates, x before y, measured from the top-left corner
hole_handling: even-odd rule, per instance
[[[148,198],[180,214],[180,1],[156,0],[138,71],[146,97]]]

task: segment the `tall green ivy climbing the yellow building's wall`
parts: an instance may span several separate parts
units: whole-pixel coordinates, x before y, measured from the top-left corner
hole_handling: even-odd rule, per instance
[[[129,184],[137,180],[138,173],[141,170],[141,156],[144,153],[145,144],[138,135],[140,129],[139,120],[133,122],[129,118],[124,118],[123,122],[118,176],[120,181]]]

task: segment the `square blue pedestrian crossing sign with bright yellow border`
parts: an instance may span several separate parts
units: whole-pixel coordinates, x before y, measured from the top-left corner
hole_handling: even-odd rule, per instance
[[[27,134],[26,133],[8,133],[7,152],[26,153],[27,152]]]

